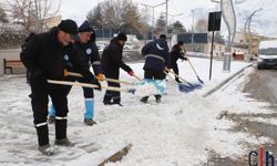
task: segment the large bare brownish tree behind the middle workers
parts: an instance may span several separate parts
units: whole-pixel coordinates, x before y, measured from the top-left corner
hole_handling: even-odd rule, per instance
[[[95,28],[114,29],[144,35],[143,19],[137,4],[132,0],[105,0],[86,15]]]

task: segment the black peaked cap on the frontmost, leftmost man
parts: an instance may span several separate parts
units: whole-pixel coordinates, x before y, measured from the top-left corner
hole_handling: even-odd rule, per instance
[[[59,30],[62,30],[71,35],[73,40],[78,40],[78,25],[76,22],[73,20],[62,20],[60,24],[58,24]]]

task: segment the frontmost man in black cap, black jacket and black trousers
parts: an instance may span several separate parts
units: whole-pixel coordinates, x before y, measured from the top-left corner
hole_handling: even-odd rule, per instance
[[[63,20],[49,32],[34,35],[20,53],[21,61],[30,71],[31,104],[37,129],[39,151],[44,155],[53,155],[49,144],[48,102],[52,100],[55,113],[55,144],[72,146],[66,137],[68,125],[68,89],[64,85],[48,84],[47,80],[64,80],[66,63],[80,72],[86,83],[98,84],[98,80],[80,60],[78,50],[72,44],[78,25],[72,20]]]

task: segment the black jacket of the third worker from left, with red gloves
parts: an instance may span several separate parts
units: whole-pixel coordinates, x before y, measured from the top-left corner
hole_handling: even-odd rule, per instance
[[[122,61],[123,46],[119,44],[116,39],[112,39],[111,43],[104,49],[101,64],[104,75],[117,79],[120,68],[126,72],[132,69]]]

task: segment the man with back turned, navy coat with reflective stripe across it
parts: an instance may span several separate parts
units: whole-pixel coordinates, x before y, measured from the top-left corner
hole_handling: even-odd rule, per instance
[[[161,34],[160,39],[154,40],[142,49],[142,54],[145,55],[144,80],[146,82],[154,81],[154,84],[161,84],[164,80],[165,68],[170,68],[170,53],[168,45],[166,42],[166,35]],[[156,86],[158,89],[158,86]],[[161,102],[162,93],[155,95],[156,102]],[[141,98],[141,102],[146,103],[148,96]]]

